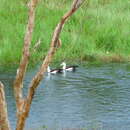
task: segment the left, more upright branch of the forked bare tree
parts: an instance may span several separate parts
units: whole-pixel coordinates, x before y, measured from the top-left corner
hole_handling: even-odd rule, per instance
[[[31,44],[32,32],[34,27],[36,4],[37,4],[37,0],[31,0],[29,4],[29,20],[28,20],[27,30],[24,38],[23,55],[17,71],[18,73],[16,75],[16,79],[14,81],[14,94],[16,98],[17,116],[20,114],[20,110],[22,109],[21,106],[23,104],[22,86],[23,86],[24,75],[26,73],[26,69],[29,61],[29,55],[30,55],[29,48]]]

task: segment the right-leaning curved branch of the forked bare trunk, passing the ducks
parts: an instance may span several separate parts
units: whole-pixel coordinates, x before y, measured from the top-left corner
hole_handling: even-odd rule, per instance
[[[82,0],[74,0],[72,9],[68,11],[61,19],[61,21],[57,24],[53,36],[52,36],[52,41],[51,41],[51,46],[50,50],[45,57],[41,68],[39,69],[39,72],[35,75],[33,80],[31,81],[29,85],[29,91],[28,91],[28,96],[27,96],[27,102],[25,104],[25,110],[27,110],[26,116],[28,116],[29,110],[30,110],[30,105],[35,93],[36,88],[38,87],[40,81],[44,77],[44,73],[46,72],[46,69],[48,65],[50,64],[52,57],[54,56],[56,49],[60,46],[61,41],[59,40],[59,35],[62,31],[63,25],[67,21],[67,19],[78,9],[78,7],[81,5]],[[80,3],[80,4],[79,4]]]

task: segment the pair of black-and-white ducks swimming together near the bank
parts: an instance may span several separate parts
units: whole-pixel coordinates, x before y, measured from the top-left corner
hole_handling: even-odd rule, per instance
[[[62,68],[59,69],[53,69],[51,70],[50,67],[48,66],[47,72],[51,74],[56,74],[56,73],[63,73],[65,71],[75,71],[75,69],[78,67],[77,65],[72,65],[72,66],[66,66],[66,63],[63,62],[61,64]]]

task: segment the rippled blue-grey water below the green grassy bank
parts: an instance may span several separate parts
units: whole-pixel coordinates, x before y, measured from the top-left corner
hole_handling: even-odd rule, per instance
[[[24,91],[36,69],[27,73]],[[15,72],[0,71],[6,86],[9,119],[15,127],[12,81]],[[46,75],[34,97],[26,129],[86,128],[130,130],[130,65],[79,67],[76,72]]]

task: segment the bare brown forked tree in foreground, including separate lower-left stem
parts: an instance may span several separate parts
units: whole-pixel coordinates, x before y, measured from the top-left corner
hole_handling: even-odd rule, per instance
[[[33,96],[35,94],[35,90],[38,87],[40,81],[45,75],[46,69],[50,64],[53,55],[55,54],[57,48],[61,46],[61,40],[59,39],[60,33],[62,31],[63,25],[68,20],[68,18],[80,7],[83,0],[74,0],[71,9],[61,18],[60,22],[57,24],[52,40],[50,43],[50,49],[39,68],[39,71],[34,76],[32,81],[30,82],[27,97],[23,97],[23,79],[26,73],[26,69],[29,62],[30,57],[30,44],[32,39],[32,32],[34,28],[34,21],[35,21],[35,8],[37,6],[38,0],[31,0],[29,5],[29,19],[27,24],[27,30],[24,38],[24,47],[23,47],[23,54],[20,61],[19,68],[17,69],[16,79],[14,81],[14,95],[16,99],[16,108],[17,108],[17,125],[16,130],[23,130],[25,126],[25,121],[28,117],[31,103]],[[9,130],[9,121],[7,116],[7,108],[6,108],[6,101],[4,98],[4,90],[3,84],[0,83],[0,105],[2,109],[0,110],[0,121],[4,122],[4,125],[1,126],[2,130]]]

